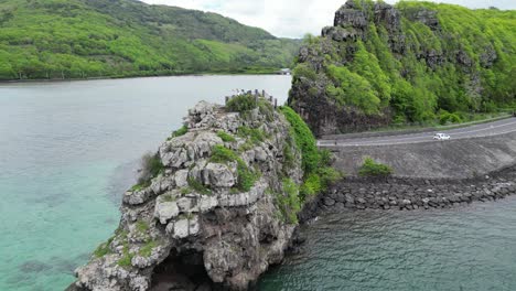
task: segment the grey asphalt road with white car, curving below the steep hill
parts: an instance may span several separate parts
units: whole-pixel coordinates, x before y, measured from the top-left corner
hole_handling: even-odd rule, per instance
[[[442,131],[430,131],[419,133],[406,133],[385,137],[346,138],[340,136],[337,140],[319,140],[320,147],[354,147],[354,146],[387,146],[402,143],[418,143],[433,141],[433,136],[438,132],[450,134],[451,139],[465,139],[474,137],[488,137],[516,131],[516,118],[508,118],[490,123],[482,123],[464,128],[455,128]],[[436,141],[441,142],[441,141]],[[442,141],[445,142],[445,141]]]

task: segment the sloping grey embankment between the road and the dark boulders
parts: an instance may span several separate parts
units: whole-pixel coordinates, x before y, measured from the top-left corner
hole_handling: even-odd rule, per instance
[[[365,157],[388,164],[397,177],[469,179],[516,164],[516,132],[449,141],[334,147],[334,166],[356,175]]]

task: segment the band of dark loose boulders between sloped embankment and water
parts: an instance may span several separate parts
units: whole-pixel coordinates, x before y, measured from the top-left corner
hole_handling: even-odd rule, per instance
[[[516,194],[516,166],[475,179],[347,177],[315,198],[316,213],[344,209],[415,211],[464,206]],[[307,218],[303,217],[303,218]]]

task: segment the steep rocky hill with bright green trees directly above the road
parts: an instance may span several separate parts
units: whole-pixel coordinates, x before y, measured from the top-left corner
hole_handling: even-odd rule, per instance
[[[516,105],[516,11],[350,0],[309,36],[289,103],[318,134]]]

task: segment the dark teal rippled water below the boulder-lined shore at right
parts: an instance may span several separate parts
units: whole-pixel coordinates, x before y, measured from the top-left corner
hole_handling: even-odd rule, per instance
[[[262,291],[514,291],[516,197],[456,209],[344,212],[303,227]]]

